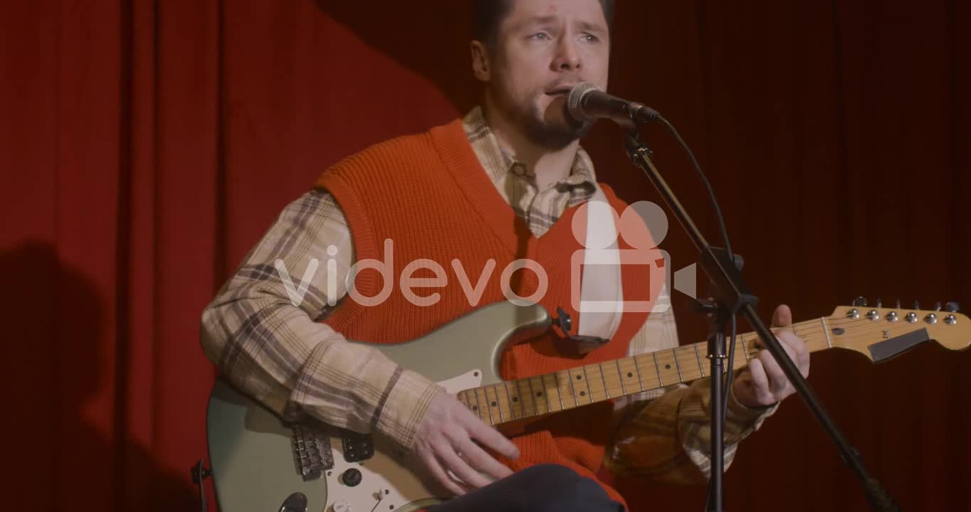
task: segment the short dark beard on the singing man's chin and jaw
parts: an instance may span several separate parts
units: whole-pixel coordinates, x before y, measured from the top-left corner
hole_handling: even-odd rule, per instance
[[[578,121],[570,115],[566,97],[553,100],[546,109],[541,109],[538,102],[518,104],[505,94],[497,99],[503,116],[519,126],[529,142],[545,149],[562,149],[586,136],[593,127],[593,121]]]

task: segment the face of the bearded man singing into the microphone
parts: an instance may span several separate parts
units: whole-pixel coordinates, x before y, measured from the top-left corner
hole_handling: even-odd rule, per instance
[[[586,133],[566,100],[581,81],[607,88],[610,38],[598,0],[513,0],[491,51],[496,107],[534,144],[558,149]]]

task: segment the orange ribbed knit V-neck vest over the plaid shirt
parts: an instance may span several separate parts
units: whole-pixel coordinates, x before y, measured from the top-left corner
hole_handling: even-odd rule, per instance
[[[393,242],[393,281],[387,299],[378,305],[363,305],[348,298],[325,320],[343,335],[374,343],[407,341],[477,307],[505,301],[501,273],[521,258],[539,263],[549,277],[548,290],[539,304],[551,312],[557,306],[563,307],[574,319],[574,331],[583,322],[570,300],[570,257],[584,248],[571,229],[579,207],[567,208],[539,239],[532,236],[486,176],[465,137],[461,120],[365,149],[325,171],[317,185],[333,194],[343,208],[352,231],[356,260],[386,262],[385,240]],[[623,211],[625,205],[613,191],[601,186],[612,206]],[[630,246],[621,238],[619,248]],[[415,289],[419,297],[439,294],[437,304],[413,304],[400,289],[402,272],[409,263],[420,259],[436,262],[446,272],[446,286]],[[470,304],[453,260],[461,264],[466,281],[474,287],[490,259],[495,265],[481,300]],[[659,284],[650,282],[646,267],[621,269],[625,301],[656,297]],[[412,276],[434,274],[425,270]],[[520,297],[528,297],[537,290],[537,273],[520,270],[513,273],[510,282]],[[364,270],[357,274],[354,286],[361,296],[375,297],[385,282],[380,272]],[[612,340],[581,357],[557,351],[554,342],[562,333],[553,328],[507,350],[500,365],[502,376],[521,378],[624,357],[631,337],[646,319],[647,313],[623,313]],[[457,373],[464,369],[456,370]],[[611,434],[612,410],[611,401],[600,402],[529,424],[524,433],[513,438],[519,446],[519,459],[503,462],[514,470],[533,464],[563,464],[598,480],[595,473]],[[602,482],[601,485],[612,498],[623,501],[613,488]]]

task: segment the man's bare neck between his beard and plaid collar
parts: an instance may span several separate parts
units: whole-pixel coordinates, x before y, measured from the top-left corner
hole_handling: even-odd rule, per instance
[[[543,190],[570,176],[580,141],[574,141],[561,149],[534,144],[525,135],[521,123],[503,115],[488,94],[485,96],[483,115],[499,146],[536,176],[538,189]]]

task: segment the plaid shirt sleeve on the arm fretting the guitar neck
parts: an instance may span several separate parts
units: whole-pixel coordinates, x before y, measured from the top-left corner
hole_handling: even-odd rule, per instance
[[[653,352],[678,346],[674,310],[653,313],[631,340],[631,352]],[[631,397],[619,408],[619,426],[607,448],[604,464],[614,473],[660,482],[693,484],[711,474],[709,403],[711,379],[679,384]],[[750,408],[729,392],[725,418],[727,469],[738,443],[758,430],[778,403]]]

